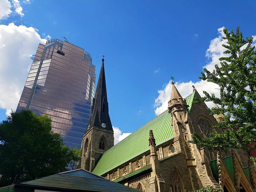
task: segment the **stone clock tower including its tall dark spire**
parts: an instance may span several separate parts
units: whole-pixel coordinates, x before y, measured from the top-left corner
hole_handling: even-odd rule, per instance
[[[81,168],[92,171],[98,158],[112,146],[114,146],[114,131],[109,117],[104,58],[102,58],[90,119],[81,145],[82,157],[79,162]]]

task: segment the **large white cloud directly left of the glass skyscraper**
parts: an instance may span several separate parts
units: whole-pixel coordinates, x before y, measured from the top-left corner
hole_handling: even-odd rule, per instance
[[[45,44],[33,27],[0,25],[0,108],[16,110],[38,44]],[[4,46],[3,46],[4,45]]]

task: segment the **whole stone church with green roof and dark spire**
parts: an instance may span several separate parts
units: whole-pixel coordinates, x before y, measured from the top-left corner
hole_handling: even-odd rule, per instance
[[[197,90],[186,98],[172,85],[169,107],[114,145],[107,102],[104,59],[89,124],[82,140],[82,169],[146,192],[185,192],[213,186],[227,192],[255,192],[256,170],[243,150],[209,151],[189,143],[191,134],[209,137],[224,114],[209,115]]]

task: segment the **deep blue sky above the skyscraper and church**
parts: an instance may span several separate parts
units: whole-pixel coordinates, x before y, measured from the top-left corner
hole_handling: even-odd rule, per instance
[[[219,37],[223,34],[219,28],[231,30],[239,25],[244,37],[256,34],[255,1],[27,0],[20,1],[19,6],[14,4],[17,0],[9,1],[12,13],[2,17],[2,27],[14,22],[15,26],[33,27],[33,33],[42,39],[48,34],[51,38],[65,36],[91,54],[96,79],[101,55],[105,55],[110,118],[112,125],[123,133],[131,133],[156,117],[163,110],[156,111],[157,107],[166,107],[171,73],[183,97],[192,92],[192,82],[198,83],[203,66],[213,64],[213,59],[219,56],[218,50],[214,50],[221,49]],[[0,30],[3,49],[1,33],[7,34],[8,27],[4,32]],[[39,41],[33,43],[38,45]],[[33,47],[35,52],[37,47]],[[2,65],[8,64],[8,58],[5,62]],[[16,77],[12,70],[5,73]],[[3,85],[13,78],[0,82]],[[22,89],[24,77],[20,81]],[[18,98],[19,91],[15,94]],[[0,97],[0,120],[6,118],[6,109],[9,110],[5,98]],[[17,99],[13,100],[15,103]]]

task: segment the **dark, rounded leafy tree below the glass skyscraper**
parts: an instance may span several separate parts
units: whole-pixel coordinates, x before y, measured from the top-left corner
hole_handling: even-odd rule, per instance
[[[47,115],[12,111],[0,123],[0,187],[74,169],[80,151],[53,133]]]

